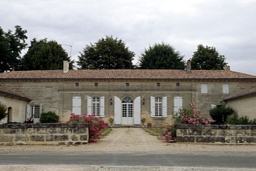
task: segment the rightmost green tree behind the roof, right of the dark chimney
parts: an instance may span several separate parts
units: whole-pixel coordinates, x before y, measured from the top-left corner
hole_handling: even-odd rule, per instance
[[[227,64],[225,56],[220,55],[215,47],[204,47],[202,44],[197,46],[191,60],[192,70],[223,70]]]

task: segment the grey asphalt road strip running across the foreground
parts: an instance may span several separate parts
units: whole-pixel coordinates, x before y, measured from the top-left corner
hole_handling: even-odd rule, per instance
[[[103,165],[103,166],[162,166],[162,167],[223,167],[255,168],[256,154],[189,155],[189,154],[0,154],[0,165]]]

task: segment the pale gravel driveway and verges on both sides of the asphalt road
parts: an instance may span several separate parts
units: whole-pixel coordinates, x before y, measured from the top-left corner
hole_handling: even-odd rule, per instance
[[[134,154],[212,154],[234,153],[243,155],[246,152],[256,152],[256,147],[251,145],[212,145],[212,144],[176,144],[157,140],[156,136],[145,133],[140,128],[113,128],[113,131],[105,138],[85,145],[22,145],[22,146],[0,146],[0,154],[8,153],[134,153]],[[0,165],[0,170],[205,170],[206,168],[179,168],[179,167],[97,167],[97,166],[8,166]],[[207,168],[207,170],[216,170]],[[232,170],[235,170],[234,168]]]

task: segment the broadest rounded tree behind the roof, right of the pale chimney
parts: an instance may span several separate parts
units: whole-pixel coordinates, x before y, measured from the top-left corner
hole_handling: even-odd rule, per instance
[[[86,45],[78,56],[77,65],[86,70],[132,69],[134,56],[124,41],[106,36],[95,44]]]

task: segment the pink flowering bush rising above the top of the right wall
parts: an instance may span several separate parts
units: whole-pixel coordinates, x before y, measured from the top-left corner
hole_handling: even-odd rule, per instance
[[[191,103],[189,109],[182,109],[178,113],[178,121],[182,124],[211,124],[210,119],[203,118],[197,111],[196,104]]]

